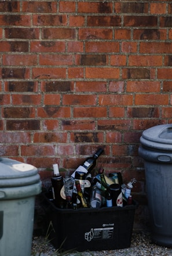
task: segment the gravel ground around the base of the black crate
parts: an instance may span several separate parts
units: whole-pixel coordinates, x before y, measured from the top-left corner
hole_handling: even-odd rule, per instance
[[[171,256],[172,248],[156,246],[151,242],[151,236],[148,231],[134,233],[131,237],[130,248],[110,251],[85,251],[83,253],[59,253],[45,237],[33,237],[31,256]]]

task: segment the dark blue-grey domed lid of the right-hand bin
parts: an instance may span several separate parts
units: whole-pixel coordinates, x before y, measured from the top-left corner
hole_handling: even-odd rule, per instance
[[[140,142],[143,147],[172,152],[172,124],[153,126],[143,131]]]

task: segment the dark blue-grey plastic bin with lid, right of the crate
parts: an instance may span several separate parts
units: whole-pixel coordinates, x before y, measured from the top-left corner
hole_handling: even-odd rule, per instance
[[[144,159],[152,240],[172,247],[172,124],[142,133],[139,155]]]

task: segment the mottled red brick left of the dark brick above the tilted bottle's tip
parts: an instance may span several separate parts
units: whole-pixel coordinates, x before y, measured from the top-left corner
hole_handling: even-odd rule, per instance
[[[34,133],[34,143],[67,143],[67,133],[50,131]]]

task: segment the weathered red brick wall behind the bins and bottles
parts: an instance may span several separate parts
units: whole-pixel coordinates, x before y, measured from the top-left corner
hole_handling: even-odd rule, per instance
[[[2,157],[75,169],[98,166],[138,180],[139,138],[171,123],[172,3],[0,1]]]

